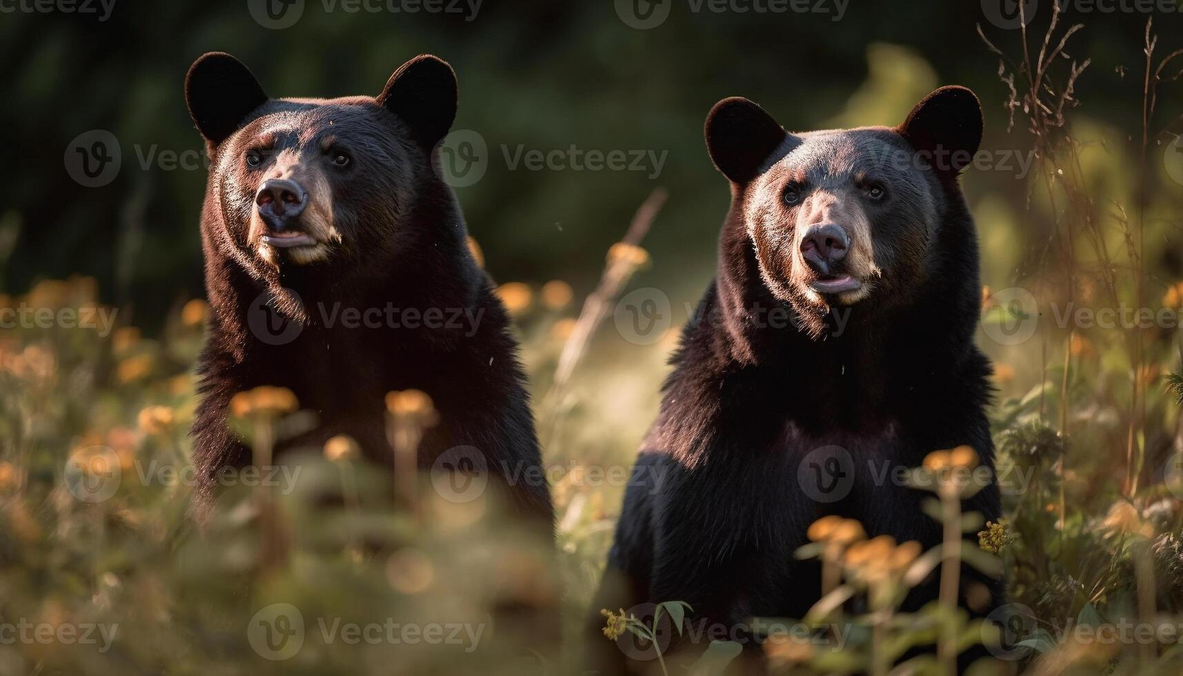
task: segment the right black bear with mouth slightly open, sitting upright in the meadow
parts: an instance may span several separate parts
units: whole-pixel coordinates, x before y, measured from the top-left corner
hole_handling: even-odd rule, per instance
[[[939,449],[976,450],[988,485],[964,508],[998,519],[977,236],[958,186],[982,128],[977,97],[955,86],[896,128],[791,134],[744,98],[711,110],[706,144],[732,195],[718,270],[672,358],[595,610],[686,601],[728,630],[803,618],[821,573],[794,553],[816,520],[940,542],[922,510],[932,494],[880,471]],[[984,594],[978,612],[1001,603],[997,580],[965,566],[962,581],[963,597]],[[930,581],[905,607],[933,598]]]

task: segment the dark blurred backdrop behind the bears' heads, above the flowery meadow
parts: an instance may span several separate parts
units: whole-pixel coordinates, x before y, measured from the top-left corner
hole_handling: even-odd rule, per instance
[[[149,328],[202,295],[198,215],[206,173],[182,78],[206,51],[238,56],[272,96],[374,95],[414,54],[450,60],[460,81],[454,129],[478,131],[489,148],[484,178],[457,189],[489,270],[503,282],[561,277],[577,297],[594,285],[603,252],[658,186],[670,200],[646,242],[653,265],[644,275],[677,295],[704,287],[729,193],[703,147],[702,123],[722,97],[752,98],[790,129],[893,124],[931,88],[959,83],[983,99],[987,147],[1029,146],[1022,124],[1007,131],[998,58],[976,25],[1015,54],[1020,31],[1000,25],[1001,14],[977,0],[810,0],[796,6],[816,12],[780,13],[715,12],[709,4],[696,12],[697,0],[667,0],[667,19],[649,30],[632,27],[621,8],[660,12],[661,2],[486,0],[473,15],[468,4],[457,4],[459,12],[408,13],[374,0],[367,6],[380,11],[351,12],[347,7],[356,5],[348,0],[306,0],[295,25],[272,30],[253,18],[247,0],[115,0],[109,15],[97,0],[96,13],[26,11],[31,0],[21,1],[6,1],[0,13],[0,291],[93,276],[103,301],[124,308],[122,320]],[[1051,0],[1029,2],[1035,49]],[[1098,124],[1131,130],[1112,136],[1130,143],[1129,153],[1132,130],[1140,129],[1148,17],[1068,8],[1062,18],[1085,24],[1071,57],[1092,59],[1078,96]],[[1183,43],[1178,6],[1153,20],[1161,50],[1183,46],[1176,44]],[[1158,127],[1178,116],[1179,89],[1161,92]],[[109,184],[86,187],[71,178],[66,157],[75,139],[96,129],[117,139],[122,166]],[[571,144],[668,155],[655,178],[651,166],[526,170],[505,160],[519,146],[547,152]],[[169,153],[185,154],[188,168],[167,165]],[[989,194],[996,212],[1021,221],[1024,181],[1003,172],[967,181],[971,201]]]

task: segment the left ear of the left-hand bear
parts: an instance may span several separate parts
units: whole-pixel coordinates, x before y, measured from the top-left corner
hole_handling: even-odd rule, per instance
[[[185,76],[185,102],[198,131],[214,147],[266,103],[267,95],[243,62],[224,52],[209,52],[193,62]]]

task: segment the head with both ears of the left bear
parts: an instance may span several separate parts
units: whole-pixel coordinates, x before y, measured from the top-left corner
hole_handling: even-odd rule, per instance
[[[348,270],[389,251],[416,201],[442,194],[425,186],[440,184],[432,162],[457,83],[437,57],[403,64],[377,97],[273,99],[215,52],[193,64],[185,91],[212,161],[206,237],[256,277]]]

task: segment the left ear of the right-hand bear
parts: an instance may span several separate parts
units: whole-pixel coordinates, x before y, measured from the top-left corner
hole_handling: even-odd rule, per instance
[[[741,97],[716,103],[706,116],[705,133],[711,161],[736,184],[756,178],[787,136],[763,108]]]

